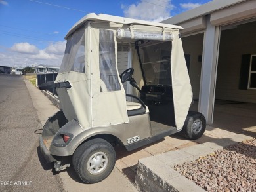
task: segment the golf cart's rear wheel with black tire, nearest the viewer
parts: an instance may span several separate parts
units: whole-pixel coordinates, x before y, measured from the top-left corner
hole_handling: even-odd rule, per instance
[[[116,152],[106,140],[96,138],[85,142],[75,150],[72,163],[83,182],[98,183],[112,172],[116,163]],[[96,168],[92,166],[93,164]]]

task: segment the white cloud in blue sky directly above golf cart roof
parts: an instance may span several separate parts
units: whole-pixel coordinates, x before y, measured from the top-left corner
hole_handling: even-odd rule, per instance
[[[123,9],[127,18],[160,22],[171,16],[171,10],[174,9],[174,5],[171,4],[171,0],[147,0],[140,1],[136,5],[121,5],[121,9]]]

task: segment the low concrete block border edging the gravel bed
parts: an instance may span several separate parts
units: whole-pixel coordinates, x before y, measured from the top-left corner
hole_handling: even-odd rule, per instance
[[[196,183],[173,170],[173,167],[178,164],[195,161],[214,151],[252,138],[243,134],[235,134],[228,138],[218,138],[212,142],[139,159],[135,185],[139,191],[144,192],[205,191]]]

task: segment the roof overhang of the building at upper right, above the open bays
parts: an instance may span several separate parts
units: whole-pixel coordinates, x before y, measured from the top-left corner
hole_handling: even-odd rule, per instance
[[[163,22],[182,26],[181,33],[186,35],[206,29],[207,18],[213,26],[224,26],[255,17],[255,0],[214,0]]]

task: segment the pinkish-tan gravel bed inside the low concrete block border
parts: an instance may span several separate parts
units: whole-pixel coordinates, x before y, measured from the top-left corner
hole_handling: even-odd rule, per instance
[[[174,169],[206,191],[256,191],[256,138]]]

